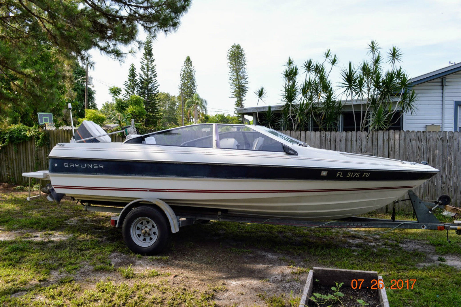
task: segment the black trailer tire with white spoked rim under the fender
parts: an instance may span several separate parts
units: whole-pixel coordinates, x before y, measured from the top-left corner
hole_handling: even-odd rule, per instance
[[[160,253],[168,244],[170,231],[163,214],[157,208],[141,206],[131,210],[123,221],[125,244],[134,253]]]

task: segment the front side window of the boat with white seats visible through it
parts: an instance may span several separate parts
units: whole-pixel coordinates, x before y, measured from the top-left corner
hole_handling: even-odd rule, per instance
[[[218,136],[224,149],[284,151],[282,143],[244,125],[218,125]]]

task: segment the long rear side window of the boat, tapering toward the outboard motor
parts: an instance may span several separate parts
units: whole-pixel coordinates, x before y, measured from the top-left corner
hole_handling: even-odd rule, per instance
[[[153,132],[125,143],[212,148],[213,125],[191,125]]]

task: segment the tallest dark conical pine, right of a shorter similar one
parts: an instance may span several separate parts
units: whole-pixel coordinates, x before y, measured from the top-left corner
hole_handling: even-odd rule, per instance
[[[139,74],[139,96],[144,99],[146,108],[146,126],[156,126],[160,119],[158,107],[159,84],[155,72],[154,54],[152,53],[152,37],[148,36],[144,45],[144,54],[141,59],[141,73]]]

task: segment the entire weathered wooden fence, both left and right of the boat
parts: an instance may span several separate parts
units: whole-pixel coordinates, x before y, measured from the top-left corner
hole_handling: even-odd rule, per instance
[[[440,170],[414,192],[422,199],[437,199],[442,194],[461,205],[461,138],[459,132],[375,131],[375,132],[312,132],[282,131],[315,148],[351,153],[371,153],[373,156],[418,162],[427,161]],[[47,131],[49,141],[37,146],[35,139],[7,144],[0,150],[0,182],[27,184],[23,172],[48,169],[48,154],[57,143],[69,142],[71,130]],[[123,137],[112,135],[112,141]],[[396,208],[412,211],[409,203]],[[391,205],[378,210],[391,210]]]

